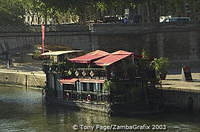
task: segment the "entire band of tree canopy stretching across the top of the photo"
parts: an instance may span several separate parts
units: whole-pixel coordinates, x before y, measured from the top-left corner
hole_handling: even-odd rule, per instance
[[[199,7],[199,0],[0,0],[0,25],[24,24],[27,13],[53,18],[58,24],[78,16],[84,23],[106,15],[124,15],[125,9],[140,15],[142,23],[157,23],[160,16],[168,15],[199,21]]]

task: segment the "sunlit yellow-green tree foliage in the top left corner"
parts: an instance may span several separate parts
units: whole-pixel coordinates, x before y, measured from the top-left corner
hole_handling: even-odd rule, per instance
[[[62,5],[58,1],[56,3]],[[26,15],[43,17],[45,23],[49,18],[53,18],[58,24],[63,21],[70,22],[71,19],[76,20],[75,8],[68,8],[66,4],[68,5],[68,3],[64,4],[64,10],[55,8],[54,5],[48,5],[42,0],[0,0],[0,25],[25,25]]]

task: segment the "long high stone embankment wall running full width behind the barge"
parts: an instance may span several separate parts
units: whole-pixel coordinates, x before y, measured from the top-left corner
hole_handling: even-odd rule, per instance
[[[0,53],[8,48],[23,52],[21,47],[30,49],[33,45],[41,43],[40,30],[8,31],[0,31]],[[45,43],[66,45],[86,51],[102,49],[112,52],[124,49],[140,54],[142,49],[145,49],[152,57],[168,57],[175,66],[189,64],[198,67],[200,65],[199,38],[199,25],[194,24],[94,24],[88,27],[88,30],[80,25],[67,25],[64,28],[47,30]]]

